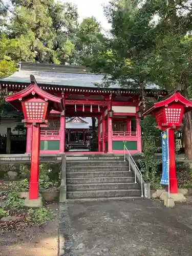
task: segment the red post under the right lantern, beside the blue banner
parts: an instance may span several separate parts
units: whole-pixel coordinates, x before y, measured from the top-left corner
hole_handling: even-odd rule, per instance
[[[175,166],[175,141],[174,130],[168,129],[168,149],[169,149],[169,186],[170,193],[178,193],[176,166]]]

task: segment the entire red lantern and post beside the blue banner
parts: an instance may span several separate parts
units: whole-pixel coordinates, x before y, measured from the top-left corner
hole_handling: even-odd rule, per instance
[[[184,98],[179,92],[175,92],[167,99],[154,103],[150,109],[143,113],[143,116],[149,114],[155,116],[159,130],[168,130],[169,188],[171,194],[178,193],[174,130],[179,130],[182,125],[183,114],[191,110],[192,101]]]

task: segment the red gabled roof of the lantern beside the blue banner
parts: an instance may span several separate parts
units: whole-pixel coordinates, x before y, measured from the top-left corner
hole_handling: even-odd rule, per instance
[[[143,113],[143,116],[146,116],[148,114],[151,114],[151,112],[159,109],[159,108],[162,108],[163,106],[166,106],[172,102],[180,102],[184,105],[184,113],[185,112],[188,112],[188,111],[191,111],[192,110],[192,101],[186,99],[185,97],[183,97],[179,92],[175,92],[173,95],[171,95],[170,97],[164,99],[164,100],[161,100],[157,103],[154,103],[151,108],[149,108],[148,110],[146,110],[144,113]]]

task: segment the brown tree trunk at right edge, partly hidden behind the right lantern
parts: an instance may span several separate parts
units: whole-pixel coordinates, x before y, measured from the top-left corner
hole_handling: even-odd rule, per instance
[[[187,86],[184,86],[184,96],[188,98]],[[192,123],[191,123],[191,112],[184,114],[184,126],[183,126],[183,143],[185,158],[192,160]]]

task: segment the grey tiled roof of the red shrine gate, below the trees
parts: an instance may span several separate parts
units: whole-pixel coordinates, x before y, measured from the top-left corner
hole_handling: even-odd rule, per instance
[[[39,85],[53,87],[81,87],[97,88],[95,83],[102,83],[103,74],[89,73],[80,66],[54,65],[35,62],[20,62],[20,70],[9,77],[0,80],[0,83],[30,83],[30,75],[34,75]],[[113,84],[111,89],[121,88]],[[155,84],[148,84],[146,89],[158,89]]]

